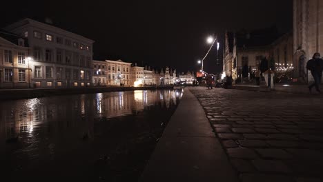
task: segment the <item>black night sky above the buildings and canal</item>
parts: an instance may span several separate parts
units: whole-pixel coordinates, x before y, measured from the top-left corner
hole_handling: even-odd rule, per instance
[[[8,8],[1,8],[1,27],[25,17],[49,17],[60,28],[95,40],[94,59],[170,66],[181,72],[198,69],[210,34],[218,34],[223,45],[224,30],[277,25],[287,32],[293,25],[292,0],[24,2],[10,1]],[[222,70],[215,52],[204,62],[206,72]]]

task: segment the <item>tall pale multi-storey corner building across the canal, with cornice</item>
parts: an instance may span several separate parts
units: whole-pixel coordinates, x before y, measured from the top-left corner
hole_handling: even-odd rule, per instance
[[[92,84],[92,44],[79,34],[23,19],[5,28],[28,39],[32,88],[78,88]]]

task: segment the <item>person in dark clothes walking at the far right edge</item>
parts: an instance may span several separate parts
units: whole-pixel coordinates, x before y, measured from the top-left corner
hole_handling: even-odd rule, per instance
[[[307,61],[306,68],[311,71],[311,74],[314,79],[314,83],[309,85],[309,92],[312,92],[312,88],[315,87],[316,91],[321,93],[320,83],[322,79],[323,71],[323,60],[320,58],[321,55],[319,52],[315,52],[313,59]]]

